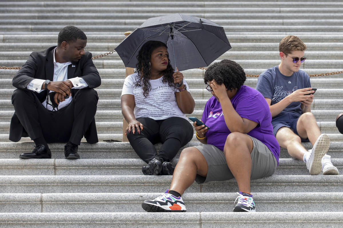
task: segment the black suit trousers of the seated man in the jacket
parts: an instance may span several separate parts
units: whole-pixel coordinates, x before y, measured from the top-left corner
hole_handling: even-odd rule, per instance
[[[31,139],[44,137],[47,143],[80,145],[97,108],[94,89],[76,90],[71,103],[57,111],[47,110],[33,91],[16,89],[12,95],[15,114]]]

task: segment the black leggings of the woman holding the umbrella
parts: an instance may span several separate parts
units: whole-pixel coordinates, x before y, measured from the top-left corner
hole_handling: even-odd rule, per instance
[[[138,118],[143,124],[143,130],[138,134],[127,132],[127,138],[137,153],[146,163],[158,157],[163,161],[171,161],[179,149],[193,138],[193,126],[184,118],[170,117],[165,120]],[[163,145],[157,153],[154,144],[161,142]]]

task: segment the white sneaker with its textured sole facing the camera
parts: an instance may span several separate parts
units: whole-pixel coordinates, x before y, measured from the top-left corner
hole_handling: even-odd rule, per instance
[[[306,166],[311,175],[318,175],[321,172],[321,160],[329,150],[330,140],[327,134],[321,134],[315,145],[310,150],[310,157],[306,162]]]

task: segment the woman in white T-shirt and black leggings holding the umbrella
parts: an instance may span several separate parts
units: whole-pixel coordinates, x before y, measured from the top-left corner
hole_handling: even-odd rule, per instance
[[[135,73],[125,79],[121,94],[121,112],[129,123],[126,136],[147,163],[144,175],[171,175],[170,161],[193,137],[185,114],[193,112],[194,99],[182,73],[171,67],[165,43],[146,42],[137,59]],[[158,142],[163,145],[157,153]]]

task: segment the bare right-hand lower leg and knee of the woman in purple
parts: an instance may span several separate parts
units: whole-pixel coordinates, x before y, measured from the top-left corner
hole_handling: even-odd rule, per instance
[[[226,163],[237,181],[238,189],[247,193],[250,193],[252,147],[251,138],[239,132],[229,134],[224,145]]]

